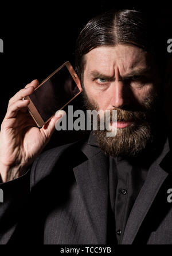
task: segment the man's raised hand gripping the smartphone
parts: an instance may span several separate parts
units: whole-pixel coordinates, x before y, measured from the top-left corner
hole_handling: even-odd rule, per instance
[[[22,100],[38,86],[33,80],[9,100],[0,132],[0,175],[3,182],[18,178],[41,153],[50,140],[55,123],[53,118],[39,129],[27,111],[29,100]]]

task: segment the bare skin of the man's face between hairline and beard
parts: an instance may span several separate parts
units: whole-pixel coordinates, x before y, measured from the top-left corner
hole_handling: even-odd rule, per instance
[[[142,49],[122,45],[98,47],[85,55],[84,89],[89,100],[97,103],[99,110],[113,110],[132,106],[140,107],[142,102],[156,88],[158,89],[158,72],[153,60]],[[147,69],[140,80],[124,80],[128,74]],[[92,76],[93,71],[111,77]],[[138,73],[138,75],[140,72]],[[134,74],[133,74],[134,75]],[[103,80],[100,80],[103,78]]]

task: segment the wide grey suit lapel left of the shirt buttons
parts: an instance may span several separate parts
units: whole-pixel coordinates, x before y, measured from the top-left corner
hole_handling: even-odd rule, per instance
[[[107,237],[108,175],[107,160],[99,148],[87,145],[83,152],[88,160],[73,168],[91,228],[98,244]]]

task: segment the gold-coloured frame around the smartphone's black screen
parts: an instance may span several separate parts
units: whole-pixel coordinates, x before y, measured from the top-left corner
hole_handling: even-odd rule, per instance
[[[52,77],[54,74],[56,74],[58,72],[58,70],[62,69],[62,67],[66,66],[69,73],[71,73],[71,76],[73,78],[73,80],[76,82],[77,87],[79,88],[80,92],[77,93],[71,100],[69,100],[63,107],[60,108],[60,110],[62,110],[62,108],[64,108],[65,106],[67,106],[73,99],[75,99],[75,97],[77,97],[82,91],[83,89],[81,88],[81,83],[79,80],[79,77],[77,76],[75,70],[73,69],[71,63],[69,61],[65,62],[64,64],[62,64],[60,67],[58,67],[58,69],[56,69],[52,74],[50,74],[50,76],[48,76],[47,78],[45,78],[44,81],[41,82],[41,84],[34,90],[36,91],[41,85],[44,84],[44,82],[46,82],[50,77]],[[25,97],[26,100],[29,100],[29,105],[28,105],[28,110],[30,115],[32,116],[32,118],[34,119],[34,122],[36,122],[38,127],[42,127],[43,125],[45,125],[45,123],[49,122],[50,119],[52,119],[52,117],[55,115],[52,115],[46,122],[42,119],[40,113],[37,111],[37,108],[34,106],[32,100],[30,99],[29,96]]]

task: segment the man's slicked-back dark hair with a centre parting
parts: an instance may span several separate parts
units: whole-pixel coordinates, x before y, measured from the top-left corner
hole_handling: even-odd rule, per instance
[[[76,71],[83,83],[83,56],[93,48],[132,44],[154,55],[165,67],[165,39],[153,16],[138,10],[110,10],[92,18],[76,41]],[[161,70],[162,71],[162,70]]]

